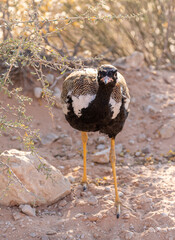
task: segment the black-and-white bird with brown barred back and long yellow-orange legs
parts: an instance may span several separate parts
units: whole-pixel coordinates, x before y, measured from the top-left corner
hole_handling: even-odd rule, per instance
[[[115,137],[122,131],[129,114],[130,94],[118,69],[110,64],[74,70],[63,81],[62,110],[71,127],[81,131],[83,145],[84,189],[88,185],[86,155],[88,132],[106,134],[111,140],[109,159],[112,166],[116,217],[120,216],[121,201],[116,178]]]

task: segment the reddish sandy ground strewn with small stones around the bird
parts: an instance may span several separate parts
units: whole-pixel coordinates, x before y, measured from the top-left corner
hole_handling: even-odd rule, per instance
[[[175,239],[175,134],[159,136],[159,129],[174,119],[175,73],[146,68],[122,73],[132,99],[129,118],[116,137],[116,145],[122,144],[116,164],[123,204],[120,219],[115,216],[110,163],[93,161],[95,152],[109,147],[108,137],[89,134],[89,185],[83,192],[80,133],[68,125],[61,109],[53,108],[52,121],[44,101],[34,99],[27,106],[27,113],[33,116],[31,127],[39,128],[42,137],[49,133],[60,136],[50,145],[36,142],[37,152],[70,179],[72,191],[52,206],[37,207],[36,217],[20,213],[18,207],[1,206],[0,239]],[[12,103],[13,99],[1,96],[1,102]],[[1,151],[23,149],[14,135],[1,136]]]

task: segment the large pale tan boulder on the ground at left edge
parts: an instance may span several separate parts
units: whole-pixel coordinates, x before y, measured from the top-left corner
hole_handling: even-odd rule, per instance
[[[0,155],[0,204],[41,205],[57,202],[70,193],[70,183],[45,159],[31,152],[11,149]],[[12,184],[9,184],[11,180]],[[2,194],[8,186],[6,194]]]

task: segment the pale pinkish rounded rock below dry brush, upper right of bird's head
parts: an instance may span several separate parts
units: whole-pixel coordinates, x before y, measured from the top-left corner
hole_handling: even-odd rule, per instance
[[[126,64],[132,68],[140,68],[144,64],[144,54],[135,51],[130,56],[126,57]]]

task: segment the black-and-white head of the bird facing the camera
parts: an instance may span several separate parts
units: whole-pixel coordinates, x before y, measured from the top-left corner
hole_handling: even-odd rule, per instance
[[[98,68],[97,80],[99,85],[114,87],[117,82],[117,68],[112,65],[102,65]]]

